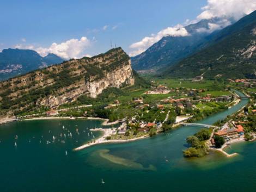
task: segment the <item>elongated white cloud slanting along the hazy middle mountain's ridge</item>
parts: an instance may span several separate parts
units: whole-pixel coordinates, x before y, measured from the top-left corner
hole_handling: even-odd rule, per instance
[[[135,51],[130,52],[130,56],[135,56],[139,53],[142,53],[150,47],[151,45],[155,44],[155,42],[162,39],[164,36],[188,36],[190,35],[187,30],[178,24],[175,27],[168,27],[166,29],[161,30],[156,35],[152,34],[151,36],[146,36],[141,41],[135,42],[130,45],[130,48],[136,49]]]

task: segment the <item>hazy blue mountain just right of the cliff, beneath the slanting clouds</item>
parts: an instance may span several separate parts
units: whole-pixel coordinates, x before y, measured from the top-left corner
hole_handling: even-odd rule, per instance
[[[233,20],[229,20],[233,22]],[[209,34],[213,32],[210,26],[223,26],[221,18],[201,20],[198,23],[185,27],[188,36],[166,36],[147,51],[132,57],[132,67],[135,70],[158,70],[168,65],[173,65],[179,60],[198,51],[208,40]]]

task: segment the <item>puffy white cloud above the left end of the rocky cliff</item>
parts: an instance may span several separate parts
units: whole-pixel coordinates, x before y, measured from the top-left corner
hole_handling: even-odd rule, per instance
[[[91,41],[83,36],[79,39],[70,39],[68,41],[56,44],[55,42],[50,47],[35,48],[42,57],[49,53],[53,53],[64,59],[80,58],[84,55],[84,51],[91,45]]]

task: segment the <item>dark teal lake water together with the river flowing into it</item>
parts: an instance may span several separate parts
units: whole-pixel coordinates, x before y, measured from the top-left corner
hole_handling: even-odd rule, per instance
[[[247,102],[243,99],[200,123],[222,120]],[[211,152],[203,158],[186,159],[182,156],[185,139],[200,128],[180,127],[132,143],[72,151],[92,139],[87,128],[100,127],[100,123],[38,120],[1,125],[0,191],[256,191],[256,143],[231,145],[228,151],[239,153],[233,158]],[[94,133],[95,137],[100,134]]]

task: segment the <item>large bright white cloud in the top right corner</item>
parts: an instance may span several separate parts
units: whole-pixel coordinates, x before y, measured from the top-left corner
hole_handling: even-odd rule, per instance
[[[202,8],[203,13],[197,16],[198,20],[213,17],[233,17],[239,20],[256,9],[255,0],[208,0],[208,5]]]

